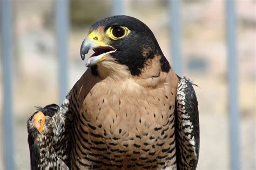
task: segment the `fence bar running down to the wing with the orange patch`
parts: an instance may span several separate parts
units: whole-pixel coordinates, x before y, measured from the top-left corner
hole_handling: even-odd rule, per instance
[[[59,101],[68,93],[69,1],[56,1],[56,33],[58,55]]]

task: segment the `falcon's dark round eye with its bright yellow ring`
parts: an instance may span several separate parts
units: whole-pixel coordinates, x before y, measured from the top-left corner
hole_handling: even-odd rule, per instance
[[[111,26],[107,29],[107,35],[113,40],[125,38],[130,33],[130,30],[125,26]]]

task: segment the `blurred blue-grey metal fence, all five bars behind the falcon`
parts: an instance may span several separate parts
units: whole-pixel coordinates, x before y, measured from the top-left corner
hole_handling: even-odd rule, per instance
[[[179,0],[168,0],[170,11],[170,35],[172,39],[172,65],[176,73],[182,75],[181,66],[181,26]],[[226,36],[228,55],[228,107],[230,115],[230,157],[231,169],[239,169],[239,103],[238,64],[236,47],[235,1],[226,0]],[[11,0],[1,1],[2,12],[2,68],[3,68],[3,143],[4,167],[15,169],[13,141],[13,98],[12,98],[12,8]],[[113,0],[113,15],[124,13],[124,0]],[[68,32],[69,1],[56,1],[56,33],[58,48],[59,100],[68,92]]]

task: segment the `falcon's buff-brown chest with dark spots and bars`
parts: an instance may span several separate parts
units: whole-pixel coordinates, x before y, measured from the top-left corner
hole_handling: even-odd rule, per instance
[[[169,78],[156,87],[141,86],[132,78],[105,79],[86,95],[86,85],[80,86],[78,96],[85,98],[76,106],[79,114],[73,123],[71,166],[176,167],[173,112],[177,82]]]

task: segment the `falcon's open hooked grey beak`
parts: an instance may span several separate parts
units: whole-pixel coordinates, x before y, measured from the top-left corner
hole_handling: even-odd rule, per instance
[[[106,60],[105,55],[110,54],[110,53],[114,53],[117,51],[117,49],[113,48],[112,46],[109,45],[102,45],[102,43],[100,43],[101,45],[99,45],[97,42],[94,42],[93,40],[91,40],[90,37],[87,37],[80,48],[80,55],[82,60],[85,59],[85,54],[87,54],[89,52],[90,49],[92,49],[93,51],[95,51],[95,53],[93,53],[86,61],[85,66],[86,67],[91,67],[96,65],[97,63]]]

